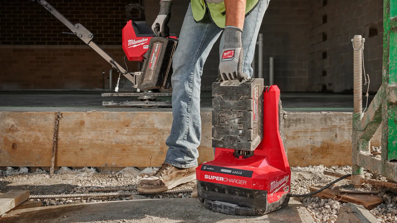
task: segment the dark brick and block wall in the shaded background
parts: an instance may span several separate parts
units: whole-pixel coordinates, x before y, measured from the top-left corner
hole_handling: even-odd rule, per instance
[[[51,0],[71,22],[82,23],[94,40],[123,63],[121,30],[125,6],[141,0]],[[145,0],[149,24],[158,0]],[[174,0],[171,32],[179,35],[188,0]],[[323,24],[324,15],[327,16]],[[24,0],[0,2],[0,90],[102,88],[102,70],[110,65],[42,6]],[[365,65],[371,91],[381,83],[382,1],[271,0],[260,33],[264,37],[263,77],[268,84],[269,57],[274,83],[284,92],[350,92],[355,34],[366,38]],[[202,89],[217,77],[218,44],[204,67]],[[326,53],[325,53],[326,52]],[[323,58],[324,57],[324,58]],[[256,62],[258,67],[258,61]],[[130,70],[138,70],[135,63]],[[114,80],[116,81],[116,79]]]

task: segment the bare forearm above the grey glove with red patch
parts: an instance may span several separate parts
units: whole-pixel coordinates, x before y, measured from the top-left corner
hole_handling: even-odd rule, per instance
[[[224,0],[226,10],[226,26],[244,26],[246,0]]]

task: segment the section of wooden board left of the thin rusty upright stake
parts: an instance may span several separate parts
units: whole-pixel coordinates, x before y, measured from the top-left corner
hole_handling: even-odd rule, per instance
[[[0,112],[0,166],[50,166],[52,112]]]

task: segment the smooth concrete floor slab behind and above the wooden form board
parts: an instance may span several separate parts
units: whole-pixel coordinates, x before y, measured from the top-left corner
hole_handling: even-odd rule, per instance
[[[134,99],[133,97],[101,97],[101,93],[105,92],[3,91],[0,92],[0,110],[30,108],[32,111],[40,111],[41,107],[46,107],[50,109],[48,111],[57,108],[68,109],[68,111],[83,110],[84,108],[109,111],[114,108],[102,107],[102,101],[131,101]],[[368,104],[372,99],[373,96],[370,96]],[[171,97],[164,97],[162,100],[171,100]],[[283,109],[287,111],[353,111],[353,95],[350,94],[282,92],[281,100]],[[365,100],[364,97],[364,106]],[[202,108],[211,108],[211,101],[211,92],[201,93]]]

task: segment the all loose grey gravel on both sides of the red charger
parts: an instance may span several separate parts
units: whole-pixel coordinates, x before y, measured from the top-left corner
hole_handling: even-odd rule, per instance
[[[62,167],[56,171],[52,178],[48,173],[40,168],[11,168],[0,170],[0,194],[10,189],[30,189],[32,195],[40,194],[76,194],[76,193],[99,193],[104,191],[93,191],[96,189],[112,189],[112,192],[136,192],[136,186],[140,179],[155,173],[157,168],[145,168],[138,170],[135,168],[125,168],[118,172],[99,172],[95,168],[71,169]],[[292,167],[291,192],[307,193],[309,186],[325,185],[335,177],[323,174],[323,171],[334,171],[342,174],[351,173],[351,166],[331,166],[327,168],[323,165]],[[372,178],[371,173],[365,176]],[[385,180],[382,176],[376,179]],[[349,180],[342,180],[336,183],[337,186],[349,190],[379,190],[378,196],[383,198],[384,203],[370,210],[379,218],[381,222],[397,222],[397,197],[395,194],[386,191],[384,188],[375,188],[370,184],[363,185],[362,188],[354,188],[349,184]],[[176,189],[192,189],[195,181],[178,186]],[[43,206],[95,203],[105,201],[122,201],[136,199],[162,199],[162,198],[190,198],[190,192],[174,194],[145,194],[119,197],[86,197],[86,198],[56,198],[56,199],[31,199],[43,202]],[[333,199],[320,199],[318,197],[302,198],[303,205],[307,208],[316,222],[336,222],[339,209],[344,205]]]

